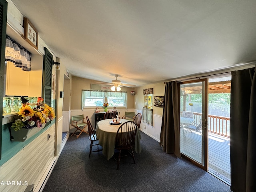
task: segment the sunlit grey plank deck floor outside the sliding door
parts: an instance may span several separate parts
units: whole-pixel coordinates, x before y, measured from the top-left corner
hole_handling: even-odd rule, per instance
[[[185,131],[184,137],[181,130],[181,152],[201,162],[201,140],[200,132]],[[230,144],[228,137],[208,132],[208,164],[208,171],[211,174],[230,184]]]

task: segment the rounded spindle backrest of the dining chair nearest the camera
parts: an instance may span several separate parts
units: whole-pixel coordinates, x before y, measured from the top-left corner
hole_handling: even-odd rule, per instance
[[[129,149],[135,144],[137,125],[132,121],[124,122],[116,133],[116,148]]]

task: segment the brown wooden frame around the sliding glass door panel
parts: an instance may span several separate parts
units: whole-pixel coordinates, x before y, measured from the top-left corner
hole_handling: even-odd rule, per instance
[[[202,144],[203,144],[203,164],[196,162],[195,160],[189,158],[185,154],[181,153],[181,156],[189,160],[190,162],[196,164],[196,166],[202,168],[206,172],[208,172],[208,78],[198,79],[198,80],[184,80],[182,82],[178,82],[178,98],[179,98],[179,115],[180,115],[180,85],[194,83],[194,82],[203,82],[204,86],[202,86],[204,93],[202,94],[202,100],[204,100],[204,108],[202,108]],[[179,118],[180,119],[180,118]]]

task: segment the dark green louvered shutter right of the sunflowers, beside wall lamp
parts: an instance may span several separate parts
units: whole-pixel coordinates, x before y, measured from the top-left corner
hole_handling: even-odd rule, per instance
[[[44,67],[43,67],[43,87],[42,97],[44,103],[51,106],[51,95],[52,95],[52,54],[47,48],[44,48]],[[52,107],[52,106],[51,106]]]

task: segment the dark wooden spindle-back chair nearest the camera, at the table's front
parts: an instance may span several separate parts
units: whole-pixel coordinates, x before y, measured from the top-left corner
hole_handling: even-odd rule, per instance
[[[115,149],[119,151],[117,159],[117,169],[119,169],[121,152],[127,151],[133,158],[134,164],[135,157],[133,153],[133,146],[135,144],[135,136],[137,132],[137,125],[132,121],[124,122],[117,130]],[[130,151],[129,151],[130,150]]]

